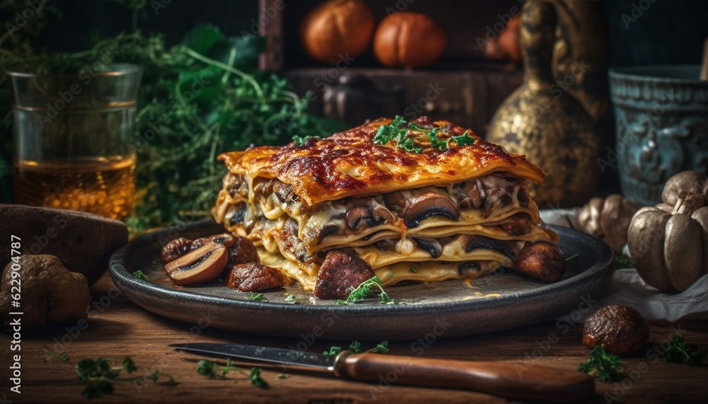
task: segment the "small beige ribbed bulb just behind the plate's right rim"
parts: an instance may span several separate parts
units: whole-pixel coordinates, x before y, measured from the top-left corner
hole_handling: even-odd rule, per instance
[[[581,231],[592,234],[620,253],[627,244],[627,230],[639,204],[622,195],[594,197],[578,213]]]

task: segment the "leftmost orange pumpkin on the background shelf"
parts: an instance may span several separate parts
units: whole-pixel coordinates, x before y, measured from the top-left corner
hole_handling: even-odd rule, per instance
[[[312,9],[300,23],[305,52],[318,62],[336,64],[358,57],[369,46],[374,14],[363,0],[330,0]]]

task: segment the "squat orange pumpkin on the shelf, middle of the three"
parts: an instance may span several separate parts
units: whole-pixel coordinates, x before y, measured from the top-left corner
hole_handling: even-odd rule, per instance
[[[435,63],[447,38],[440,25],[423,13],[393,13],[379,23],[374,54],[384,66],[416,68]]]

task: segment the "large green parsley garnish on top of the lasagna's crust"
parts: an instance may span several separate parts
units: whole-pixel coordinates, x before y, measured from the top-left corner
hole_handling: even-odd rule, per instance
[[[401,115],[396,115],[396,117],[394,118],[394,120],[392,120],[391,123],[379,127],[379,130],[377,130],[376,135],[373,139],[374,144],[383,145],[392,141],[396,141],[396,146],[400,147],[401,149],[420,154],[423,149],[415,146],[415,142],[413,142],[413,137],[409,137],[408,135],[410,131],[423,132],[427,134],[428,139],[430,140],[430,147],[433,147],[433,149],[438,150],[445,150],[448,147],[452,147],[450,145],[451,142],[454,142],[455,146],[469,146],[470,144],[474,144],[476,140],[474,139],[474,137],[469,136],[467,131],[464,131],[461,136],[452,136],[450,137],[450,139],[440,140],[438,139],[438,133],[442,130],[440,127],[435,127],[433,129],[423,129],[414,123],[410,123],[408,127],[401,128],[401,126],[406,125],[406,123],[408,122],[406,122],[404,117],[401,117]]]

